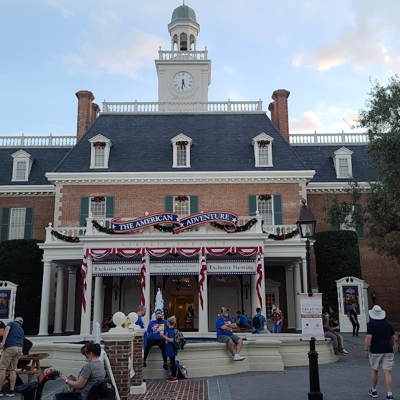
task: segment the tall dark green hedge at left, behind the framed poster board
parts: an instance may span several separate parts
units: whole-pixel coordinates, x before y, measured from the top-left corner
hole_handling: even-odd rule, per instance
[[[0,279],[18,285],[15,316],[23,318],[25,334],[39,330],[43,250],[36,243],[42,240],[16,239],[0,242]]]

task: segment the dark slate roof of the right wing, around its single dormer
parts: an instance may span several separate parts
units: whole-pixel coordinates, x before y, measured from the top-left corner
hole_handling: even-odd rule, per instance
[[[312,182],[342,182],[349,179],[337,179],[333,160],[330,155],[337,149],[345,147],[353,151],[351,154],[352,174],[359,182],[376,180],[376,173],[371,166],[365,144],[337,145],[295,145],[294,151],[303,160],[308,169],[315,169]]]

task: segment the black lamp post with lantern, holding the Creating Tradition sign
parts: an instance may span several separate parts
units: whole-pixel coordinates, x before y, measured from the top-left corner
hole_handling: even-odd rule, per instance
[[[303,204],[297,218],[297,229],[300,237],[305,240],[305,261],[307,266],[307,292],[312,296],[311,289],[311,245],[310,239],[314,237],[316,218],[311,210],[306,206],[305,200],[302,199]],[[308,400],[322,400],[323,396],[319,390],[319,371],[318,371],[318,353],[315,350],[315,337],[311,337],[309,341],[308,352],[309,364],[309,392]]]

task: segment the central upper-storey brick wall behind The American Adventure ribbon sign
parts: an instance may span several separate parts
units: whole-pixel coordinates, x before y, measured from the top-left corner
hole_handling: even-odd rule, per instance
[[[198,195],[198,210],[226,209],[248,215],[249,194],[281,194],[283,223],[297,220],[298,183],[215,183],[155,185],[64,185],[60,226],[78,226],[81,196],[114,196],[115,216],[142,216],[164,210],[165,195]]]

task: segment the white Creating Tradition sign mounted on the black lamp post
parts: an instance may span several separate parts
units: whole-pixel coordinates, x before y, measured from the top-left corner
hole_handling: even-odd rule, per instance
[[[322,293],[299,293],[301,310],[301,337],[303,340],[324,340],[322,323]]]

